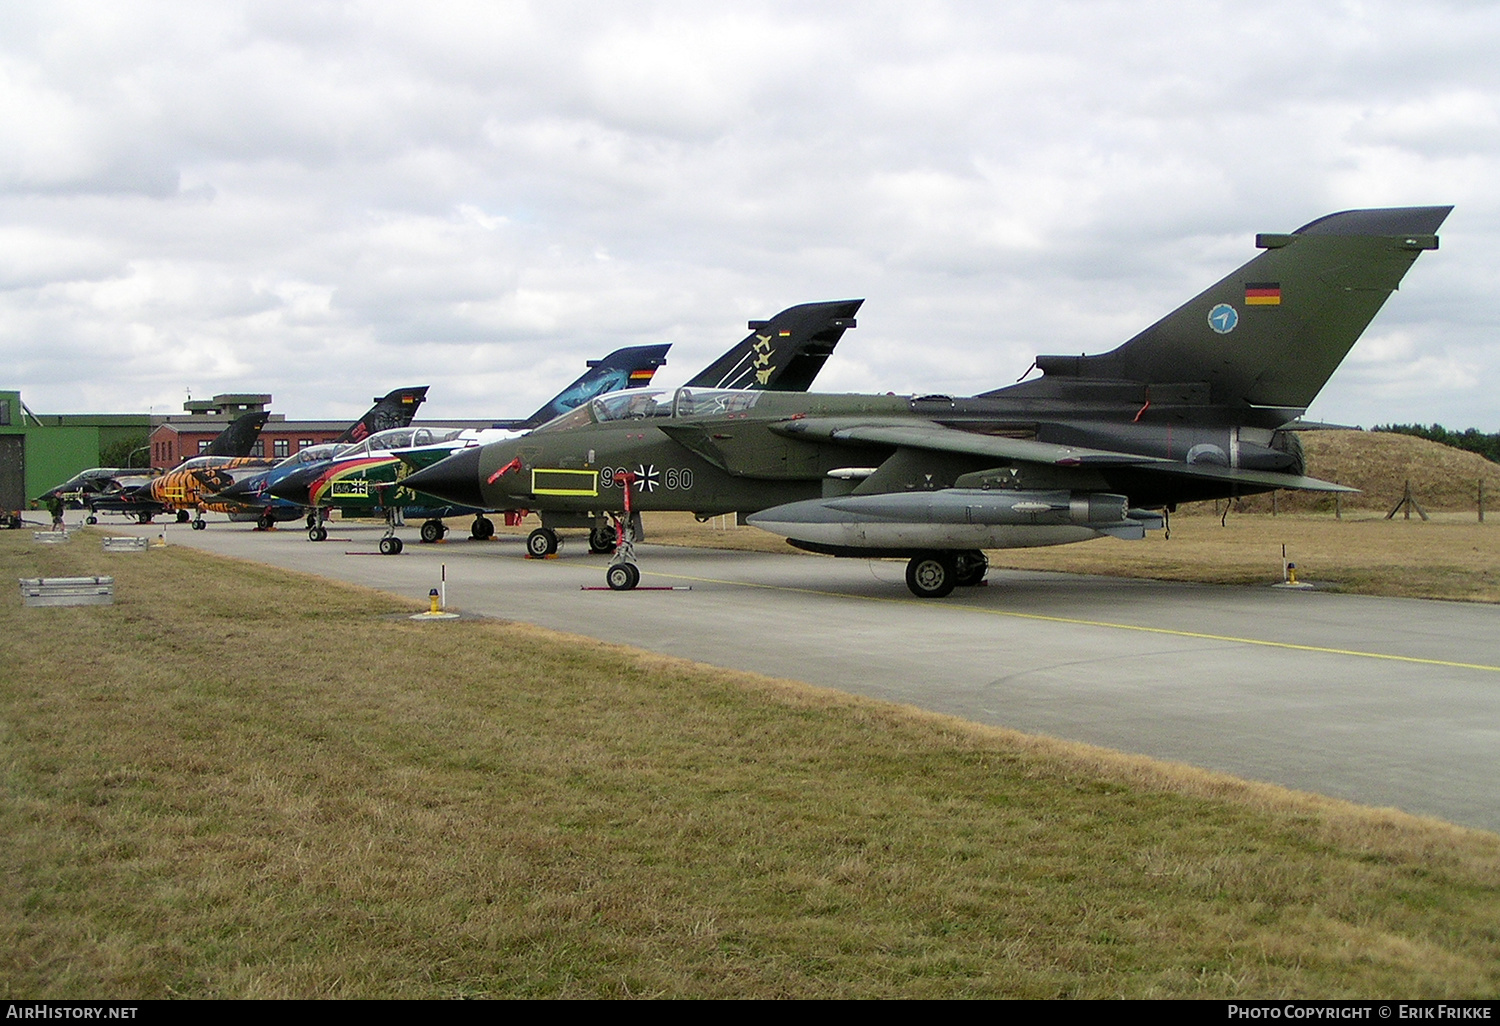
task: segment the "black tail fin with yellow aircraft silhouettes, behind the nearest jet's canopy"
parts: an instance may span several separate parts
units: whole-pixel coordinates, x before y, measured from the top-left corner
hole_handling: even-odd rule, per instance
[[[750,334],[704,368],[687,387],[807,392],[838,339],[855,327],[861,303],[802,303],[770,321],[750,321]]]

